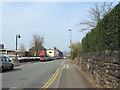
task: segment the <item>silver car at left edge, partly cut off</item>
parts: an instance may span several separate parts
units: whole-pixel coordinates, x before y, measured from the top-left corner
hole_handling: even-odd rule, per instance
[[[14,63],[7,56],[0,56],[0,72],[5,69],[14,69]]]

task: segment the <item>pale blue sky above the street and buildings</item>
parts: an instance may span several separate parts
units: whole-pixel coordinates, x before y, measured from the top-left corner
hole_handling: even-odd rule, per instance
[[[6,49],[15,49],[16,34],[18,49],[24,43],[30,48],[33,34],[44,37],[44,47],[69,51],[70,32],[72,43],[81,42],[85,36],[80,32],[80,21],[88,18],[88,11],[95,2],[4,2],[2,3],[2,44]]]

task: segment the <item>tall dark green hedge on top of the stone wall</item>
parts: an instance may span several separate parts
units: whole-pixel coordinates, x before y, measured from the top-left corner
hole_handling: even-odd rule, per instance
[[[83,52],[118,50],[120,38],[120,3],[98,22],[98,25],[82,39]]]

